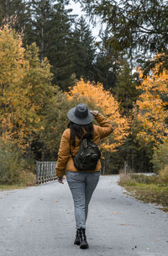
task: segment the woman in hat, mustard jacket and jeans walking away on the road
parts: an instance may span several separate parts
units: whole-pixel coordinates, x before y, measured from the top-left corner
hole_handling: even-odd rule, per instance
[[[66,174],[75,207],[74,244],[84,249],[88,248],[85,233],[88,205],[101,169],[97,144],[113,131],[113,126],[97,110],[87,109],[86,104],[76,105],[69,110],[67,116],[70,122],[61,137],[56,176],[58,182],[63,184],[63,175]],[[93,117],[99,125],[92,124]]]

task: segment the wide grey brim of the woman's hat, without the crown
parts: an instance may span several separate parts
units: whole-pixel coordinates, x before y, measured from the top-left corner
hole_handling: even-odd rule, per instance
[[[75,115],[75,110],[76,108],[72,108],[68,111],[68,118],[69,120],[71,120],[73,123],[77,124],[77,125],[88,125],[90,123],[92,123],[93,120],[93,115],[91,114],[91,112],[88,109],[88,115],[85,118],[79,118]]]

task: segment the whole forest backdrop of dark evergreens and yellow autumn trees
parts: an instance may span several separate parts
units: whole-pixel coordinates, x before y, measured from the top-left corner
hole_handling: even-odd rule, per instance
[[[66,113],[84,102],[115,123],[103,173],[168,165],[167,1],[0,1],[0,179],[18,183],[55,161]],[[104,160],[105,159],[105,160]]]

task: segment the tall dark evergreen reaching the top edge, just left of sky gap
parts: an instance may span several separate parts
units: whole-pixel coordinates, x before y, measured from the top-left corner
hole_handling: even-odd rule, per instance
[[[48,33],[48,46],[46,56],[52,65],[54,74],[53,83],[66,90],[71,83],[71,74],[73,71],[73,51],[71,24],[74,16],[71,15],[71,9],[66,8],[66,3],[55,3],[52,17],[50,20],[50,33]]]

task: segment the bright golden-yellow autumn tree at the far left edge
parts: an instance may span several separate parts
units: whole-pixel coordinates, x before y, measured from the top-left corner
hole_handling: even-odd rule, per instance
[[[25,103],[20,83],[27,65],[24,61],[22,40],[18,35],[15,36],[14,32],[8,29],[8,26],[0,29],[0,63],[1,139],[5,142],[11,136],[16,136],[13,122],[16,122],[18,101]],[[17,123],[19,125],[19,122]]]

